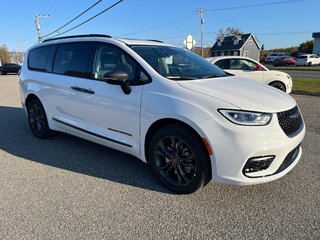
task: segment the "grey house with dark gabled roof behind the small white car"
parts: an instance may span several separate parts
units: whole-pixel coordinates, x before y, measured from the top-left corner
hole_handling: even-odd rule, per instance
[[[243,56],[259,61],[260,46],[252,33],[219,38],[210,49],[211,57]]]

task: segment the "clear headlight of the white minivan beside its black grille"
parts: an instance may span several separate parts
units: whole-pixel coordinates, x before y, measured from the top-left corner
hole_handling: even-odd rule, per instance
[[[218,111],[230,122],[244,126],[264,126],[269,124],[272,118],[272,113],[228,109],[219,109]]]

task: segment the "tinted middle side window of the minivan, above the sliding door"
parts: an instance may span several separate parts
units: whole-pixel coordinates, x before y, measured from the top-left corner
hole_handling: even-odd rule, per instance
[[[92,67],[92,44],[88,42],[58,46],[53,72],[74,77],[90,78]]]

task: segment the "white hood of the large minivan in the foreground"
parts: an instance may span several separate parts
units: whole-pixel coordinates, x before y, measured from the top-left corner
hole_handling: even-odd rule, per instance
[[[240,77],[179,81],[181,87],[236,106],[242,110],[280,112],[293,108],[295,100],[273,87]]]

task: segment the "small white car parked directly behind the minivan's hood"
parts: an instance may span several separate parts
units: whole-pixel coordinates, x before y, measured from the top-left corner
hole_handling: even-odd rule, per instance
[[[292,90],[290,75],[285,72],[269,70],[251,58],[223,56],[210,57],[206,58],[206,60],[230,74],[270,85],[286,93],[290,93]]]

